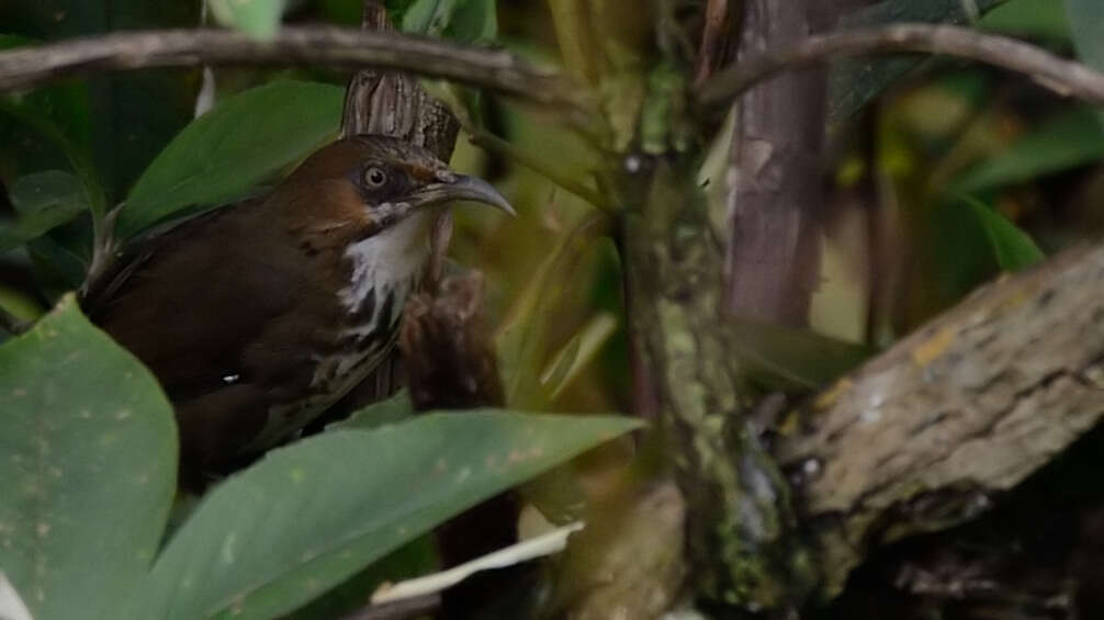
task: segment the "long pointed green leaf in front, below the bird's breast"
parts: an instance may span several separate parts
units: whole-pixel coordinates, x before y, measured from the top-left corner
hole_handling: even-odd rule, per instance
[[[287,613],[460,511],[638,427],[442,413],[274,450],[209,493],[124,618]]]

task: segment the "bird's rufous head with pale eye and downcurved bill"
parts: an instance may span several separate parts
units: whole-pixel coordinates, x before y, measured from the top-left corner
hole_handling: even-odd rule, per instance
[[[304,227],[329,229],[349,240],[396,227],[432,207],[460,201],[513,214],[513,207],[481,179],[459,174],[424,148],[385,136],[355,136],[315,152],[277,190],[293,197]],[[353,238],[354,237],[354,238]]]

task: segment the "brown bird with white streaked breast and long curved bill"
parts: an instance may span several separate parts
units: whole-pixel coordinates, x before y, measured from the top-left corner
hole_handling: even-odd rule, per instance
[[[173,404],[182,480],[295,438],[390,354],[457,201],[514,214],[426,149],[344,138],[268,194],[157,236],[89,292],[92,320]]]

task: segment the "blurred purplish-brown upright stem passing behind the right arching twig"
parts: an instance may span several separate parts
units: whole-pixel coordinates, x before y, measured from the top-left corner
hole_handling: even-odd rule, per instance
[[[814,30],[820,0],[742,2],[740,60]],[[825,75],[790,73],[736,104],[728,173],[728,304],[737,316],[803,325],[819,276]]]

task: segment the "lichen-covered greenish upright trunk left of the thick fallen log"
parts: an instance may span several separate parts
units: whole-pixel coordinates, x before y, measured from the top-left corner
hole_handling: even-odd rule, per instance
[[[788,536],[785,481],[746,420],[723,250],[688,170],[656,160],[640,174],[627,181],[645,185],[625,215],[628,316],[687,501],[690,582],[750,609],[789,607],[811,577]]]

